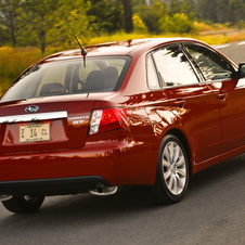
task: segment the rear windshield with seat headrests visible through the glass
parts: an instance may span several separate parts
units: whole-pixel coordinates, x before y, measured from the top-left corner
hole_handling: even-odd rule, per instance
[[[33,66],[8,90],[1,102],[76,93],[117,91],[131,59],[87,57]]]

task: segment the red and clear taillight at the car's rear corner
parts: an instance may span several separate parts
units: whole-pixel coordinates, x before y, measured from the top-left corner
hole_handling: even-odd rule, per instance
[[[122,128],[127,122],[128,109],[104,108],[93,111],[89,134]]]

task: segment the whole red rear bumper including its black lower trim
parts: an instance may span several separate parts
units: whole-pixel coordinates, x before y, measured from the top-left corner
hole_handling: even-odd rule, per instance
[[[102,141],[83,149],[0,155],[0,195],[73,194],[103,185],[154,184],[155,143]]]

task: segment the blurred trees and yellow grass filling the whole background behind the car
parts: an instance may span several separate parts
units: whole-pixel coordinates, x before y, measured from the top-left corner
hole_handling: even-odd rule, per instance
[[[211,43],[202,36],[228,42],[227,29],[244,27],[245,0],[0,0],[0,94],[43,55],[77,48],[75,35],[82,46],[156,35]]]

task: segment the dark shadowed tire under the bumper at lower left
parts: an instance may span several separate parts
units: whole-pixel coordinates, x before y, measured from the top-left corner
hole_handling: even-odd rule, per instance
[[[43,203],[44,196],[42,195],[25,195],[13,196],[11,199],[3,201],[3,206],[15,214],[26,214],[36,211]]]

